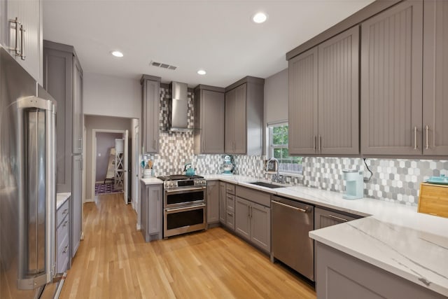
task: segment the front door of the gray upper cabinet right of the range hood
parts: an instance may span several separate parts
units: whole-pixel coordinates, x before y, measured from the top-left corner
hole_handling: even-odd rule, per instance
[[[202,90],[201,104],[201,153],[224,153],[224,94]]]

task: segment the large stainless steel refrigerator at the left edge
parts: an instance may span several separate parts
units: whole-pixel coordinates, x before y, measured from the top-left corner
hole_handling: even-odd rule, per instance
[[[55,112],[55,101],[0,46],[2,299],[43,298],[57,288]]]

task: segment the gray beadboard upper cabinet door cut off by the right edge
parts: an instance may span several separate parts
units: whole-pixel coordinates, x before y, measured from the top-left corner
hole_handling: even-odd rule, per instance
[[[448,2],[423,11],[423,155],[448,155]]]

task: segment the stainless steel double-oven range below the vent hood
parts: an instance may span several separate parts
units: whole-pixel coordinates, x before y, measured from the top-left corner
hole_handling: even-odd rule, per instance
[[[207,181],[203,176],[158,176],[163,183],[163,237],[207,228]]]

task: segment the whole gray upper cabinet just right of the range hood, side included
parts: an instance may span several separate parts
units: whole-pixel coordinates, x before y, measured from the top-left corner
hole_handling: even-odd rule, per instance
[[[224,88],[195,88],[195,154],[224,153]]]

